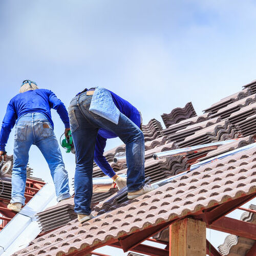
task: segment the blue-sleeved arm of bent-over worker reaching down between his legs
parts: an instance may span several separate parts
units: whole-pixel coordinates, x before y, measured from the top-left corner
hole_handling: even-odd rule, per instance
[[[116,175],[116,173],[114,172],[114,170],[111,168],[108,161],[106,161],[105,157],[103,156],[105,146],[106,146],[106,139],[98,135],[96,138],[94,162],[100,167],[100,169],[105,175],[108,175],[110,178],[112,178]]]

